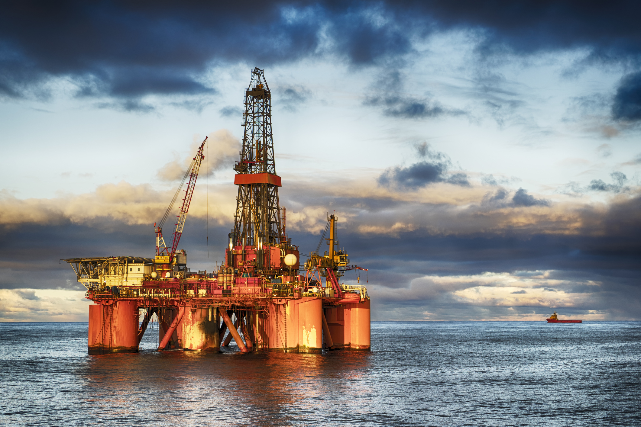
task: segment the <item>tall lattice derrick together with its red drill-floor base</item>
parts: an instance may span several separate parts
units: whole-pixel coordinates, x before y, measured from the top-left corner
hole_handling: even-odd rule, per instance
[[[272,140],[271,92],[263,70],[254,68],[245,90],[243,111],[244,134],[240,160],[234,170],[238,186],[234,228],[229,233],[226,266],[243,271],[249,277],[265,275],[274,278],[281,271],[298,270],[288,266],[288,254],[299,259],[298,248],[283,233],[276,175],[274,141]]]

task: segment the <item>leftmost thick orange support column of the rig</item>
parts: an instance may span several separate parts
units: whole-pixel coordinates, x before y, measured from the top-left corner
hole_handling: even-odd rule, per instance
[[[89,306],[88,354],[137,353],[138,303]]]

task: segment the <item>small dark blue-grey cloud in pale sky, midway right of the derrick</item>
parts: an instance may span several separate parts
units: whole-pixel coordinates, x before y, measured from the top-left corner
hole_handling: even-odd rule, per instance
[[[404,188],[420,188],[433,182],[448,182],[458,186],[469,186],[467,174],[463,172],[450,173],[452,162],[447,154],[435,152],[428,143],[415,147],[419,157],[429,159],[420,161],[406,168],[395,166],[387,169],[378,177],[378,183],[383,186],[396,185]]]

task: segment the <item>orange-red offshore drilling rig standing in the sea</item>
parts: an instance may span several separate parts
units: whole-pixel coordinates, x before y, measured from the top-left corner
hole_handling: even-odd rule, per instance
[[[224,261],[211,273],[193,272],[187,268],[187,251],[178,249],[205,138],[183,179],[189,178],[171,246],[165,244],[162,227],[182,182],[162,220],[154,224],[154,258],[63,260],[94,302],[89,306],[89,354],[137,352],[154,315],[158,351],[219,351],[231,339],[243,352],[370,349],[367,289],[338,282],[344,271],[365,269],[349,265],[348,255],[337,249],[337,216],[329,215],[320,239],[329,250],[320,255],[319,243],[303,268],[299,248],[288,238],[285,207],[278,201],[281,178],[274,162],[271,92],[263,70],[251,73],[242,151],[234,166],[237,207]]]

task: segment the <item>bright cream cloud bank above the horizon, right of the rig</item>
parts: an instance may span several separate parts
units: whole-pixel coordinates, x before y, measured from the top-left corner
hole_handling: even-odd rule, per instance
[[[414,278],[408,287],[371,286],[368,293],[372,296],[372,312],[376,312],[380,320],[540,321],[554,310],[567,319],[639,318],[638,310],[629,310],[633,304],[626,304],[627,312],[605,309],[616,298],[622,298],[624,289],[615,290],[604,283],[580,279],[559,280],[554,278],[555,273],[549,270],[535,277],[507,272],[447,277],[425,275]],[[580,286],[587,286],[589,290],[572,291]],[[635,302],[639,296],[638,291],[634,293]]]

